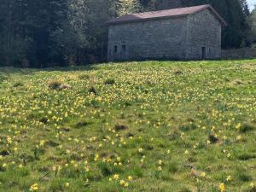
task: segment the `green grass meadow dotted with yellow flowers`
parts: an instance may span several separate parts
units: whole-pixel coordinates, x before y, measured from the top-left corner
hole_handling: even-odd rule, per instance
[[[0,68],[0,191],[256,191],[256,60]]]

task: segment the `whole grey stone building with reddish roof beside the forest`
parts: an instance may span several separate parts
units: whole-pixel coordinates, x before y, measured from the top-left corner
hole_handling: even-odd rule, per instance
[[[108,22],[108,61],[216,59],[225,21],[211,5],[124,15]]]

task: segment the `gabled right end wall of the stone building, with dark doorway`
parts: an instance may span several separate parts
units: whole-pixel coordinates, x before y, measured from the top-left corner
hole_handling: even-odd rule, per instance
[[[186,59],[216,59],[221,55],[221,25],[212,13],[205,9],[188,17]]]

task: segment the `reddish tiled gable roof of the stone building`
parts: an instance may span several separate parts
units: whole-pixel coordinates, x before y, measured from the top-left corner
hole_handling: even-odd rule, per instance
[[[179,17],[184,15],[192,15],[204,9],[209,9],[223,26],[227,25],[226,22],[222,19],[222,17],[218,15],[216,10],[213,9],[212,6],[209,4],[194,6],[194,7],[187,7],[187,8],[166,9],[166,10],[160,10],[160,11],[150,11],[150,12],[144,12],[144,13],[138,13],[138,14],[123,15],[116,19],[108,21],[108,24],[112,25],[112,24],[134,22],[134,21],[141,21],[141,20],[153,20],[153,19],[163,18],[163,17]]]

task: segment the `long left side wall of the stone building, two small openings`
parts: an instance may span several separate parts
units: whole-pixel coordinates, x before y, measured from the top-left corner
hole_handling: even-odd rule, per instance
[[[186,22],[178,17],[109,26],[108,59],[183,59]]]

